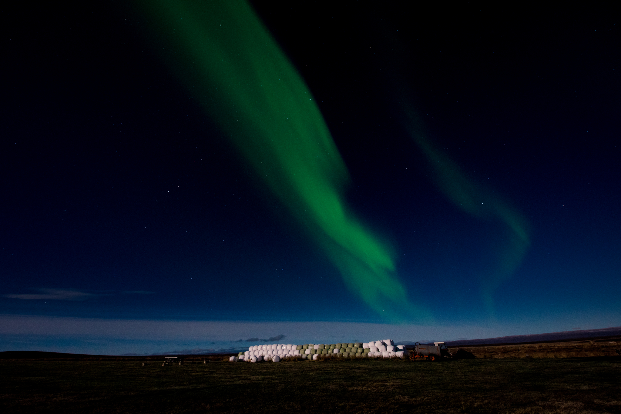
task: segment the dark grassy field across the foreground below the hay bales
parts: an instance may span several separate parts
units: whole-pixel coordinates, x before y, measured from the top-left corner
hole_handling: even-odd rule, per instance
[[[621,361],[2,361],[5,413],[621,413]]]

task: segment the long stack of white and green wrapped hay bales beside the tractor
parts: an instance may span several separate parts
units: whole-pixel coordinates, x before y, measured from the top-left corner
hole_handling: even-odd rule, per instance
[[[406,358],[409,353],[405,346],[395,346],[392,340],[379,340],[370,342],[338,343],[338,344],[265,344],[254,345],[248,351],[240,352],[239,361],[279,362],[283,358],[303,358],[317,360],[320,355],[340,356],[343,358]],[[233,358],[231,358],[233,361]]]

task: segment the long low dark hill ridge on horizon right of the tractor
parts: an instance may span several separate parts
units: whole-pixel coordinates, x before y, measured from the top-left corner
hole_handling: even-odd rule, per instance
[[[602,329],[582,329],[575,331],[562,331],[551,333],[537,333],[535,335],[510,335],[499,338],[485,338],[478,340],[445,341],[446,346],[474,346],[487,344],[517,344],[533,342],[559,342],[581,339],[607,338],[609,336],[621,336],[621,326]],[[399,342],[400,345],[414,345],[414,342]]]

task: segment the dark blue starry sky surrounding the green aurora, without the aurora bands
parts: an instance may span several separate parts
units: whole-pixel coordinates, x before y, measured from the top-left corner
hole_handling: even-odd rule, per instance
[[[253,4],[319,104],[351,174],[348,202],[394,247],[396,275],[432,312],[428,324],[621,325],[612,14]],[[0,313],[386,322],[263,191],[139,14],[12,7]],[[491,305],[483,290],[507,253],[506,228],[451,203],[404,107],[527,223],[530,245],[494,282]]]

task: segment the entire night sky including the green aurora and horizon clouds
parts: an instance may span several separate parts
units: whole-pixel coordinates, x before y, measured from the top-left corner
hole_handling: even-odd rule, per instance
[[[621,325],[612,11],[171,3],[4,9],[0,350]]]

